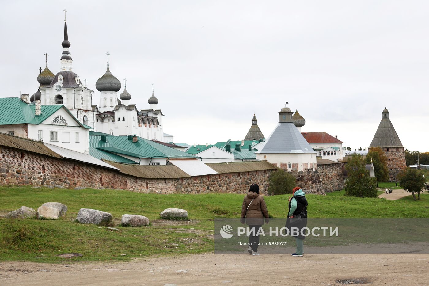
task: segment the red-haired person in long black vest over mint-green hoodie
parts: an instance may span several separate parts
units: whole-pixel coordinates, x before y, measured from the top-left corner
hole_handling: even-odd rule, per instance
[[[299,229],[299,235],[295,237],[296,240],[296,252],[292,253],[292,256],[302,256],[304,252],[304,239],[305,236],[301,234],[301,229],[307,226],[307,199],[305,193],[301,188],[295,187],[292,190],[293,197],[289,197],[289,213],[287,214],[288,219],[286,220],[286,227],[292,228],[297,227]],[[296,218],[300,216],[301,222],[293,223],[290,218]]]

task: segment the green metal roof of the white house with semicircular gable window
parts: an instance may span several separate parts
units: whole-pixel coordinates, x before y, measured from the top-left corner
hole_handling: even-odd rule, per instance
[[[80,123],[68,109],[61,104],[42,105],[40,115],[36,116],[36,106],[28,104],[18,97],[3,97],[0,98],[0,125],[11,124],[36,124],[39,125],[57,110],[64,108],[70,116],[75,119],[83,128],[93,129],[87,125]]]

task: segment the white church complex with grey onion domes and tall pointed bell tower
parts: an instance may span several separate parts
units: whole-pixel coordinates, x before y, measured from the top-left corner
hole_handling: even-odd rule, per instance
[[[131,94],[126,88],[121,90],[121,82],[112,75],[109,69],[109,53],[107,53],[106,73],[97,80],[95,86],[100,91],[99,105],[92,105],[94,91],[82,84],[79,76],[73,72],[73,60],[69,51],[70,42],[67,34],[67,21],[64,19],[64,40],[61,43],[63,52],[60,58],[60,71],[53,74],[46,67],[39,76],[39,88],[30,98],[31,103],[40,100],[41,105],[63,104],[79,122],[94,128],[94,131],[110,135],[133,135],[164,141],[162,117],[163,113],[157,109],[158,99],[149,98],[149,108],[138,110],[136,104],[131,104]],[[47,57],[48,55],[46,55]],[[172,141],[169,135],[166,139]]]

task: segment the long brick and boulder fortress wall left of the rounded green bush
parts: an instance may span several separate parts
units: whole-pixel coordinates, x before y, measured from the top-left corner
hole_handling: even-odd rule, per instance
[[[127,189],[142,193],[245,193],[251,183],[264,192],[270,170],[179,179],[146,179],[83,162],[48,157],[0,146],[0,185]]]

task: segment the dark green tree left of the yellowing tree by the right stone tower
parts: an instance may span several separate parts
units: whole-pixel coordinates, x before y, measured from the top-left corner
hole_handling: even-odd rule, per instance
[[[369,176],[365,161],[359,154],[353,154],[346,164],[347,180],[345,190],[347,196],[359,198],[377,198],[375,186],[377,181]]]

